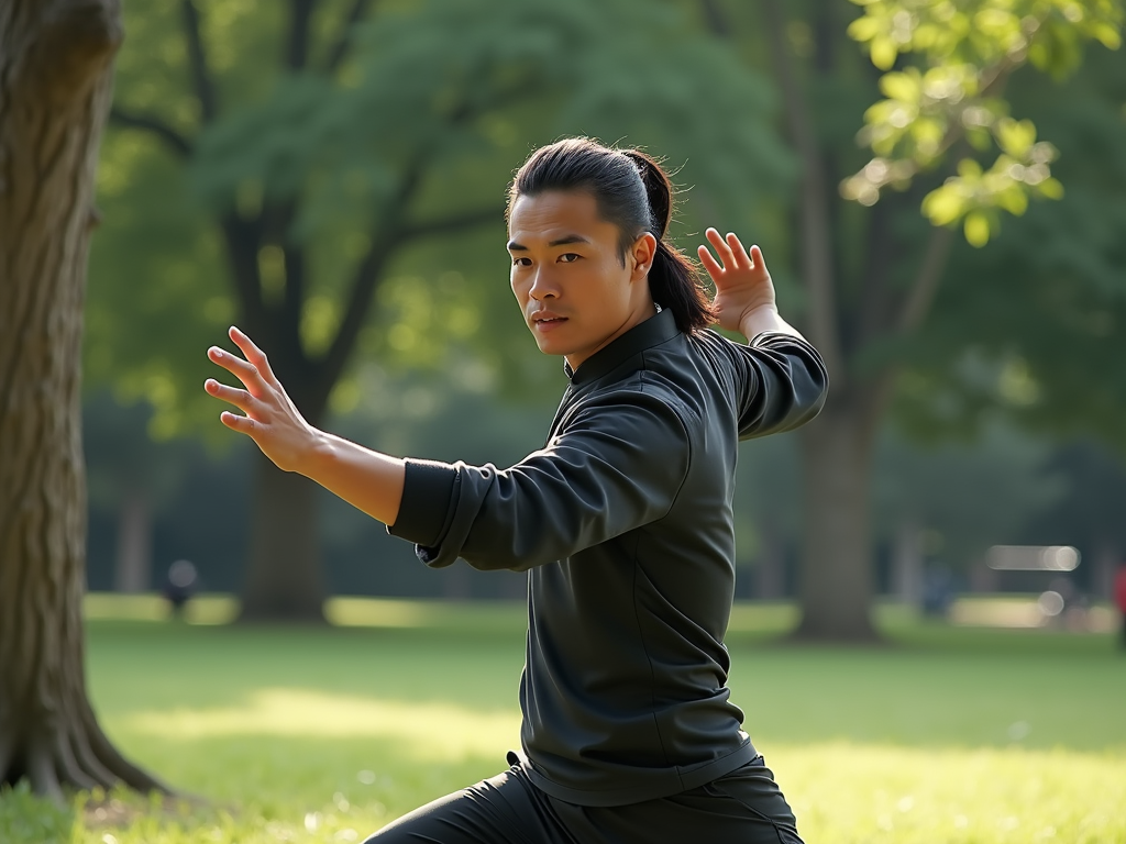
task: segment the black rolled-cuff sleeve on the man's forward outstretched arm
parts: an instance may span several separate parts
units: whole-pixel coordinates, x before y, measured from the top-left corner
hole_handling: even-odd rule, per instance
[[[508,469],[408,460],[393,536],[443,567],[525,571],[664,517],[688,473],[681,416],[644,392],[595,398]]]

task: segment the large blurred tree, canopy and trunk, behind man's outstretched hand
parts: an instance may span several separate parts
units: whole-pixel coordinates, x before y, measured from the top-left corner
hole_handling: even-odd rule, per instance
[[[284,15],[204,0],[135,6],[143,35],[120,62],[120,144],[107,191],[142,180],[150,162],[148,183],[164,186],[163,195],[149,197],[150,213],[120,213],[141,233],[163,215],[162,234],[150,240],[166,248],[168,208],[190,191],[197,205],[178,217],[190,224],[180,236],[199,233],[199,249],[196,267],[160,259],[160,275],[141,286],[107,273],[114,306],[99,307],[93,324],[111,352],[101,363],[91,358],[164,419],[169,407],[207,401],[196,386],[204,370],[194,367],[206,366],[203,350],[222,338],[223,320],[268,351],[313,424],[327,421],[358,349],[418,356],[485,321],[497,331],[503,323],[492,313],[466,321],[448,307],[465,298],[456,279],[428,294],[419,277],[457,269],[491,276],[482,300],[503,294],[503,263],[482,262],[464,236],[445,267],[435,255],[449,258],[450,239],[491,224],[490,254],[502,257],[503,186],[535,143],[579,133],[644,141],[673,162],[689,160],[701,210],[751,206],[756,191],[732,183],[731,171],[769,185],[785,169],[765,86],[668,2],[292,0]],[[126,138],[162,158],[129,158]],[[137,169],[125,172],[125,160]],[[134,262],[152,253],[141,239],[132,240]],[[373,341],[376,303],[408,263],[414,280],[395,295],[405,309],[421,303],[429,339],[417,342],[417,325],[397,325]],[[123,314],[157,300],[167,326],[159,338],[116,330]],[[215,413],[207,407],[213,430]],[[243,617],[319,619],[314,487],[265,459],[257,472]]]

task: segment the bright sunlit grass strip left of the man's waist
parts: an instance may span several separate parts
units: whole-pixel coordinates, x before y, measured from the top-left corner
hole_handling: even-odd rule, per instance
[[[382,738],[415,761],[495,755],[519,742],[520,715],[456,703],[409,703],[309,689],[261,689],[240,706],[162,709],[118,719],[123,730],[189,742],[214,736]]]

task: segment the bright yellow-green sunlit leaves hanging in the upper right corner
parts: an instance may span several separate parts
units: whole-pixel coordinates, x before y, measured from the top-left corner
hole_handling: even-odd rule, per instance
[[[852,0],[864,15],[848,33],[882,71],[886,99],[865,113],[860,141],[876,153],[844,180],[846,198],[864,205],[885,187],[903,190],[914,176],[947,159],[956,174],[922,203],[933,225],[963,224],[966,241],[983,246],[1002,212],[1020,216],[1029,198],[1058,199],[1052,177],[1056,150],[1036,141],[1036,126],[1016,120],[1002,88],[1030,63],[1061,80],[1080,63],[1087,42],[1116,50],[1124,9],[1119,0]],[[917,59],[922,66],[902,61]],[[972,150],[958,146],[965,141]],[[988,169],[976,160],[994,149]]]

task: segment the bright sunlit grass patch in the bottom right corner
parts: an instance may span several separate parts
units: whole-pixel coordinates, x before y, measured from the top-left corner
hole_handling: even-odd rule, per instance
[[[1126,841],[1120,753],[850,742],[759,749],[811,842]]]

